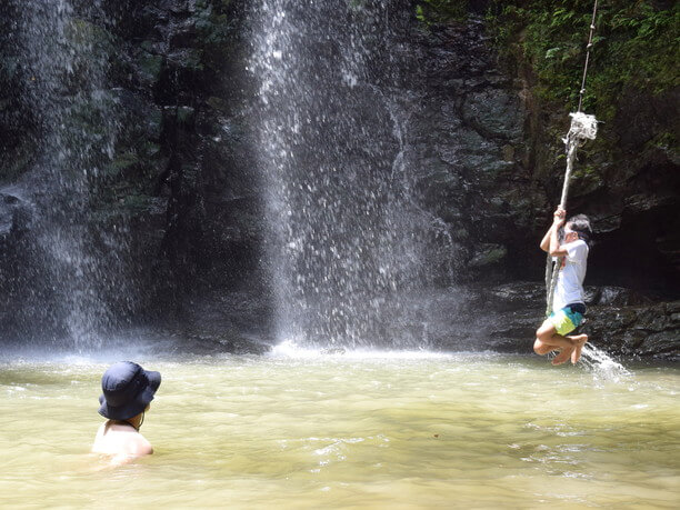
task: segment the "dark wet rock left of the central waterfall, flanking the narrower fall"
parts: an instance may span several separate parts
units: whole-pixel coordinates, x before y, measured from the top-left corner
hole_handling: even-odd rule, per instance
[[[102,93],[116,122],[114,147],[88,192],[94,230],[126,224],[127,280],[134,302],[113,312],[126,320],[163,321],[193,312],[193,298],[213,289],[229,293],[246,286],[266,297],[258,273],[258,190],[239,119],[244,101],[240,78],[229,69],[242,60],[234,56],[240,2],[117,0],[91,9],[90,2],[71,0],[69,9],[69,22],[92,39],[92,48],[107,52]],[[21,236],[34,219],[29,201],[11,190],[31,172],[30,156],[41,150],[36,107],[22,89],[30,77],[18,58],[21,49],[11,44],[20,37],[19,16],[19,2],[0,7],[0,28],[7,29],[0,31],[3,300],[19,281]],[[87,59],[89,50],[83,51]],[[262,299],[249,302],[258,314]],[[263,314],[252,320],[258,328],[267,324]],[[11,313],[6,316],[11,321]],[[6,327],[3,317],[3,333],[17,329]]]

